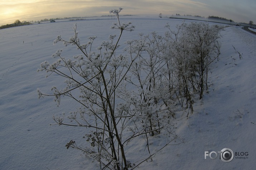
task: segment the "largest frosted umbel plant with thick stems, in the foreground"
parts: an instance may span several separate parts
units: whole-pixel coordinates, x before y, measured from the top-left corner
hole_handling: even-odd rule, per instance
[[[150,133],[152,135],[159,134],[161,129],[165,129],[169,133],[168,139],[171,139],[164,146],[177,139],[177,136],[173,136],[170,109],[162,108],[163,104],[159,100],[164,100],[164,97],[157,92],[162,89],[161,76],[158,75],[161,74],[158,71],[162,59],[157,59],[157,63],[152,65],[154,62],[154,56],[152,56],[150,59],[152,64],[146,64],[148,59],[143,59],[141,53],[150,45],[145,44],[144,40],[127,41],[128,47],[125,51],[128,53],[117,54],[116,52],[116,49],[120,48],[119,41],[122,33],[134,30],[134,26],[130,22],[120,23],[119,13],[121,10],[122,8],[110,11],[117,16],[118,23],[115,23],[112,29],[119,30],[119,36],[110,35],[108,41],[103,41],[96,51],[93,51],[93,42],[96,36],[89,37],[89,41],[82,44],[75,25],[74,35],[69,40],[58,36],[54,43],[63,42],[65,46],[74,45],[81,54],[66,59],[63,57],[63,51],[58,50],[52,55],[53,58],[57,58],[55,62],[49,64],[48,61],[44,61],[38,69],[38,71],[48,72],[49,75],[55,73],[66,78],[64,81],[66,87],[63,89],[52,87],[53,94],[44,94],[38,90],[39,97],[54,96],[55,101],[59,104],[61,97],[68,96],[81,105],[68,116],[71,123],[64,121],[64,117],[54,116],[53,119],[58,125],[93,129],[84,136],[90,147],[79,146],[73,140],[68,142],[66,147],[83,151],[87,157],[97,160],[101,169],[135,168],[142,162],[151,159],[157,151],[150,152],[148,143]],[[161,38],[157,37],[155,40],[158,39]],[[156,51],[154,52],[154,50]],[[158,55],[157,49],[154,48],[151,53]],[[153,69],[150,71],[149,77],[145,79],[149,82],[143,85],[143,88],[150,90],[143,91],[143,99],[126,88],[126,80],[131,77],[131,72],[133,72],[131,70],[134,70],[136,65],[135,61],[136,63],[145,61],[141,67],[146,64],[145,67],[151,66]],[[163,90],[162,92],[164,94]],[[141,100],[142,102],[140,102]],[[145,159],[131,162],[127,160],[125,146],[138,136],[144,136],[144,139],[147,140],[150,154]]]

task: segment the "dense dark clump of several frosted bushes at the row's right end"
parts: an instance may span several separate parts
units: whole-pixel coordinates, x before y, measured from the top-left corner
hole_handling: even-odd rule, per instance
[[[207,90],[209,65],[220,54],[219,28],[205,23],[183,23],[177,26],[177,32],[170,29],[166,37],[172,39],[169,46],[169,62],[172,65],[172,77],[178,85],[178,99],[183,106],[189,106],[193,112],[193,96]],[[167,57],[168,58],[168,57]]]

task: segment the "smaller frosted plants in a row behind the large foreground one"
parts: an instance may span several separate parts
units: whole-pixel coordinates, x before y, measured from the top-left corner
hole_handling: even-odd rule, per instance
[[[141,33],[139,40],[130,41],[131,48],[126,49],[133,53],[137,43],[144,44],[131,67],[132,75],[126,81],[137,89],[132,105],[145,111],[146,121],[141,122],[148,131],[163,124],[159,119],[159,115],[164,115],[159,114],[163,110],[168,112],[167,117],[174,116],[177,100],[182,107],[193,112],[195,94],[202,98],[203,90],[208,88],[209,65],[220,54],[219,29],[216,26],[182,23],[177,26],[177,32],[172,31],[169,24],[165,27],[168,31],[164,36],[156,32],[145,36]]]

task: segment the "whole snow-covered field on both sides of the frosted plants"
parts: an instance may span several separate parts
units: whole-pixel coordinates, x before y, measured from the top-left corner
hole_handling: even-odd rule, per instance
[[[121,44],[136,39],[138,33],[156,31],[164,34],[166,23],[174,29],[182,20],[160,18],[124,18],[132,21],[135,31],[125,32]],[[53,114],[68,113],[76,103],[63,99],[57,107],[53,98],[38,99],[37,88],[50,91],[63,80],[45,72],[37,72],[40,63],[53,61],[51,55],[64,48],[53,45],[57,35],[68,39],[77,23],[81,41],[97,36],[97,43],[108,39],[114,19],[66,21],[20,26],[0,30],[0,169],[1,170],[55,170],[95,169],[91,160],[81,152],[66,149],[71,139],[82,142],[88,129],[50,125]],[[186,21],[187,23],[192,22]],[[177,113],[176,133],[183,144],[165,147],[139,169],[254,169],[256,141],[256,35],[231,26],[221,31],[222,48],[219,61],[212,64],[209,77],[212,85],[204,93],[203,100],[195,101],[194,113],[187,119],[186,113]],[[239,59],[239,54],[242,59]],[[73,46],[64,49],[73,56],[78,51]],[[157,141],[155,141],[157,142]],[[153,143],[157,146],[157,143]],[[230,148],[234,154],[248,152],[247,156],[235,156],[231,162],[204,159],[205,151],[221,151]],[[134,146],[136,155],[137,147]],[[157,148],[156,148],[157,149]],[[214,154],[212,155],[214,156]],[[247,159],[240,159],[247,158]]]

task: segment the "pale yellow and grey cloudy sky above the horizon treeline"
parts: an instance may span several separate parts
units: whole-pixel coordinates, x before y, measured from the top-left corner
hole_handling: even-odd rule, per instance
[[[235,22],[256,19],[255,0],[0,0],[0,25],[74,16],[109,15],[111,9],[124,8],[121,15],[218,16]],[[256,23],[256,20],[253,21]]]

